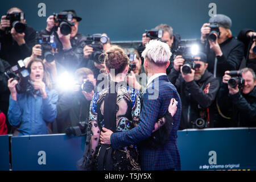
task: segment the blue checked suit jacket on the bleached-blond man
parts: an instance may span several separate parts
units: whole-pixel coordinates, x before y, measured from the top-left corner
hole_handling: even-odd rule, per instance
[[[152,99],[154,98],[154,94],[158,94],[156,99]],[[169,168],[180,170],[180,155],[176,138],[181,116],[181,100],[175,86],[171,84],[166,75],[155,78],[144,90],[142,94],[143,105],[138,126],[132,130],[113,133],[111,135],[110,140],[114,149],[129,146],[129,144],[137,144],[150,137],[155,122],[157,119],[162,118],[168,111],[170,100],[173,97],[179,104],[173,117],[174,128],[171,131],[170,140],[157,150],[140,148],[142,170],[162,170]]]

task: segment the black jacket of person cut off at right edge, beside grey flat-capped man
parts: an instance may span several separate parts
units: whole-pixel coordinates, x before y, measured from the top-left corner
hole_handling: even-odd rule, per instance
[[[240,40],[244,45],[244,56],[246,58],[246,67],[253,69],[254,72],[256,72],[256,59],[249,59],[249,51],[251,48],[251,45],[253,44],[253,40],[251,40],[249,37],[247,37],[247,32],[253,31],[252,29],[249,28],[244,28],[241,30],[237,36],[237,39]]]

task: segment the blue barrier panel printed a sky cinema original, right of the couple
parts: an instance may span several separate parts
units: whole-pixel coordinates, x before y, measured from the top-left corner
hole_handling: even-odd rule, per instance
[[[181,170],[256,170],[256,129],[178,131]]]

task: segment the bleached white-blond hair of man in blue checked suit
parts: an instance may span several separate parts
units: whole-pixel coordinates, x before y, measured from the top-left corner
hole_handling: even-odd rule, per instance
[[[147,58],[150,62],[155,64],[166,64],[171,57],[171,49],[167,43],[160,40],[150,40],[146,44],[146,48],[142,52],[142,57]]]

